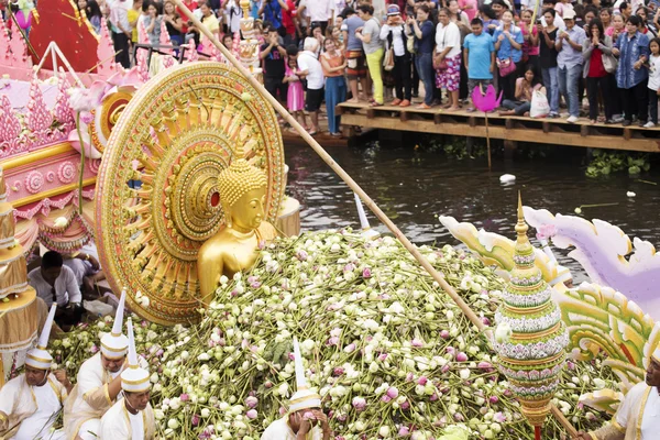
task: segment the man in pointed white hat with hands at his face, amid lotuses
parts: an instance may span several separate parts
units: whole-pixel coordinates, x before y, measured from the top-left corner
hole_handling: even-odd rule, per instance
[[[329,440],[330,425],[321,410],[321,396],[312,392],[305,377],[298,340],[294,338],[297,391],[289,399],[288,413],[272,422],[261,440]]]

